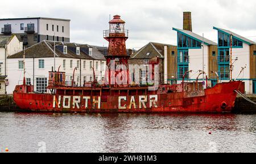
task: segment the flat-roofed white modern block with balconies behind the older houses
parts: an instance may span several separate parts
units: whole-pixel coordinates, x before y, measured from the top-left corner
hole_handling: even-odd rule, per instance
[[[2,35],[16,34],[27,48],[43,40],[70,41],[69,19],[8,18],[0,19]]]

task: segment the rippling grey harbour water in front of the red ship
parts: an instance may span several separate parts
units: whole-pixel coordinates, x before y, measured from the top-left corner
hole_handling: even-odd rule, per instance
[[[256,115],[0,113],[1,152],[5,148],[10,152],[256,152]]]

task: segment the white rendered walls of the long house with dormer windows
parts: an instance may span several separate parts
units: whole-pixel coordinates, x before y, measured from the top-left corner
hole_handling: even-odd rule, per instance
[[[39,68],[39,59],[44,59],[44,68]],[[65,68],[63,67],[63,60],[65,59]],[[70,61],[73,61],[72,68],[70,67]],[[15,89],[15,86],[18,84],[23,83],[23,69],[19,69],[18,61],[23,61],[22,58],[20,59],[7,59],[7,79],[9,80],[9,85],[7,86],[7,93],[11,94],[13,93],[13,90]],[[66,72],[66,81],[71,82],[71,76],[73,76],[73,70],[75,67],[77,67],[77,61],[80,61],[80,59],[72,59],[72,58],[56,58],[56,70],[59,66],[60,71]],[[86,61],[86,67],[83,67],[83,63]],[[33,59],[32,58],[26,58],[25,59],[26,64],[26,78],[31,78],[31,84],[33,85]],[[106,64],[106,61],[104,62],[104,65]],[[35,58],[35,83],[36,86],[36,77],[47,77],[48,80],[48,72],[52,70],[54,58]],[[93,63],[93,61],[92,61]],[[96,61],[94,61],[96,63]],[[98,71],[95,71],[96,76],[98,76],[98,80],[100,80],[100,77],[104,77],[105,75],[105,66],[100,65],[101,61],[98,61]],[[90,80],[90,76],[93,77],[93,71],[90,67],[90,60],[81,60],[81,80],[83,84],[83,78],[86,77],[86,81]],[[101,75],[101,68],[104,68],[102,70]],[[104,72],[104,73],[103,73]],[[77,82],[77,77],[80,77],[80,66],[75,71],[75,82]],[[79,78],[80,79],[80,78]],[[80,85],[80,81],[79,85]]]

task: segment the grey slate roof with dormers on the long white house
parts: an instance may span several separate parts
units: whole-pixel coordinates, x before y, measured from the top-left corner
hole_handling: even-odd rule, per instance
[[[75,44],[75,43],[66,43],[66,42],[55,42],[55,45],[67,45],[67,46],[79,46],[80,48],[90,48],[86,44]],[[93,48],[93,55],[89,56],[84,51],[80,50],[80,55],[77,55],[75,52],[68,49],[67,54],[64,54],[59,49],[55,49],[55,57],[60,58],[75,58],[75,59],[89,59],[89,60],[106,60],[104,55],[100,53],[96,48]],[[24,50],[25,58],[52,58],[54,57],[54,42],[53,41],[41,41],[38,44],[32,45],[31,47]],[[10,55],[8,58],[23,58],[24,51]]]

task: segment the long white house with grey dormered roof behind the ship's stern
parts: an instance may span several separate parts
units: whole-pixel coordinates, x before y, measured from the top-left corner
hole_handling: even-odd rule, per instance
[[[67,85],[71,85],[75,68],[77,70],[74,81],[77,86],[83,86],[84,82],[94,80],[93,69],[98,82],[105,76],[106,59],[96,46],[42,41],[7,58],[9,75],[7,93],[12,93],[15,85],[23,83],[23,53],[25,53],[26,83],[34,85],[35,92],[47,92],[48,72],[54,70],[54,61],[56,71],[60,68],[60,72],[66,72]]]

